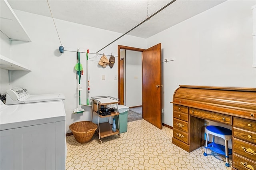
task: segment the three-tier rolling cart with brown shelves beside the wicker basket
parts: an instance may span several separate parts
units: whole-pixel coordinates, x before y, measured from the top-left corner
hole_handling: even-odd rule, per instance
[[[119,128],[119,113],[118,113],[118,109],[116,109],[116,111],[111,111],[110,115],[100,115],[100,108],[101,107],[107,107],[107,105],[111,105],[111,104],[116,104],[116,108],[118,108],[118,103],[119,100],[118,98],[115,97],[110,97],[110,96],[98,96],[98,97],[92,97],[92,101],[93,101],[93,106],[92,106],[92,118],[93,118],[93,114],[96,113],[98,115],[98,129],[96,130],[96,132],[99,134],[99,140],[98,143],[102,144],[102,140],[100,138],[104,138],[107,136],[111,136],[114,134],[118,134],[119,137],[121,137],[120,132],[118,129]],[[117,121],[118,121],[118,129],[116,129],[115,132],[112,131],[112,125],[109,123],[109,117],[110,116],[117,116]],[[104,123],[100,123],[100,118],[106,118],[108,117],[108,122],[104,122]]]

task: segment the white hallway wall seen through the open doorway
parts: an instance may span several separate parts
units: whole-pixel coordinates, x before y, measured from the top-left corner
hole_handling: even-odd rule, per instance
[[[142,53],[126,50],[126,106],[142,105]]]

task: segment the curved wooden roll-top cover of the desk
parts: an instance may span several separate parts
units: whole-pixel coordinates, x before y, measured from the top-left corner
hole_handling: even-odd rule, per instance
[[[180,85],[173,104],[256,120],[256,88]]]

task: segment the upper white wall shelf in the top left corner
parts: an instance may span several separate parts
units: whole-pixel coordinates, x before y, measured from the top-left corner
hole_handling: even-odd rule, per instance
[[[20,20],[12,10],[7,0],[0,1],[0,30],[10,40],[31,42],[26,30],[23,28]]]

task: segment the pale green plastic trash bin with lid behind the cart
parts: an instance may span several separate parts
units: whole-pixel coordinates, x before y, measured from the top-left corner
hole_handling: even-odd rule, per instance
[[[116,109],[116,106],[113,106],[114,109]],[[116,119],[116,128],[118,128],[120,133],[124,133],[127,132],[127,123],[128,123],[128,110],[130,108],[124,105],[118,105],[118,112],[119,112],[119,124],[120,126],[118,126],[118,121],[117,121],[117,117],[115,116]],[[116,109],[117,110],[117,109]]]

